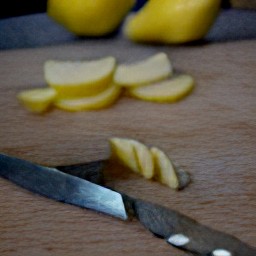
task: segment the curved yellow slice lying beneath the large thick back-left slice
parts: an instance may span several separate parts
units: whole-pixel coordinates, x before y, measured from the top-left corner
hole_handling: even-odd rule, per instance
[[[119,86],[111,84],[97,95],[74,99],[57,99],[54,104],[56,107],[68,111],[96,110],[112,105],[119,97],[120,92]]]

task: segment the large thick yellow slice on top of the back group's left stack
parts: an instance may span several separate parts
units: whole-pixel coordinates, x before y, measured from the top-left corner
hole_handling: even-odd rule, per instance
[[[85,97],[103,91],[111,83],[115,66],[114,57],[91,61],[48,60],[44,74],[58,98]]]

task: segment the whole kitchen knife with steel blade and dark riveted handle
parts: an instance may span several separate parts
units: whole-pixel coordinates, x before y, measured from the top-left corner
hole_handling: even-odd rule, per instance
[[[72,174],[92,172],[93,165],[76,165]],[[97,166],[97,164],[96,164]],[[63,171],[67,172],[64,167]],[[60,168],[60,169],[61,169]],[[77,172],[77,169],[82,171]],[[96,168],[97,169],[97,168]],[[73,170],[76,170],[73,172]],[[99,169],[98,169],[99,170]],[[255,256],[256,249],[234,236],[210,229],[163,206],[135,199],[83,178],[0,154],[0,176],[56,201],[102,212],[122,220],[136,217],[170,245],[202,256]],[[90,175],[82,175],[90,180]],[[95,177],[94,175],[92,175]]]

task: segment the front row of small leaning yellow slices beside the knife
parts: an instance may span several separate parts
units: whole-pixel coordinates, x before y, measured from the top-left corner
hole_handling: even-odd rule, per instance
[[[128,138],[111,138],[111,158],[147,179],[154,179],[173,189],[188,185],[190,176],[177,170],[170,158],[159,148],[148,148],[143,143]]]

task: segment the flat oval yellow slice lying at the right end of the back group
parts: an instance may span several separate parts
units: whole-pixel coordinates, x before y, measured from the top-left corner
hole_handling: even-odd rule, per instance
[[[175,102],[188,95],[194,87],[194,79],[190,75],[178,75],[171,79],[129,88],[129,94],[141,100],[155,102]]]

